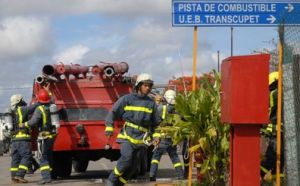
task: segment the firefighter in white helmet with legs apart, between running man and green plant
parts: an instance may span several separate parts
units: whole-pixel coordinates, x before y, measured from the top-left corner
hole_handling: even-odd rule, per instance
[[[167,90],[164,94],[164,98],[167,104],[160,104],[158,106],[158,112],[160,113],[161,119],[165,119],[167,114],[175,113],[175,96],[174,90]],[[172,124],[167,124],[167,126],[172,126]],[[154,137],[160,137],[161,141],[158,148],[153,152],[150,168],[150,181],[156,181],[156,172],[158,169],[158,164],[161,156],[167,152],[176,170],[176,174],[179,180],[184,179],[184,173],[182,169],[182,164],[177,154],[177,147],[173,145],[171,137],[166,136],[163,133],[155,133]]]

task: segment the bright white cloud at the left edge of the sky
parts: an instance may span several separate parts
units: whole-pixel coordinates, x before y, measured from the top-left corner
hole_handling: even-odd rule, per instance
[[[0,58],[16,59],[48,49],[50,30],[47,19],[10,17],[0,22]]]

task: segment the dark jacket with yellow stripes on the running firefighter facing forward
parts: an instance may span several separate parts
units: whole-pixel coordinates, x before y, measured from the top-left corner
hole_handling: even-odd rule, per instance
[[[143,144],[145,133],[153,133],[161,122],[156,103],[150,97],[137,93],[125,95],[114,104],[106,118],[105,131],[113,131],[117,119],[125,121],[117,142],[127,140],[137,145]]]

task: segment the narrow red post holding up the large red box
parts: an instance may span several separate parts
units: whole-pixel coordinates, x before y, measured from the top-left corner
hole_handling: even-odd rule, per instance
[[[260,185],[260,126],[235,125],[231,133],[230,185]]]

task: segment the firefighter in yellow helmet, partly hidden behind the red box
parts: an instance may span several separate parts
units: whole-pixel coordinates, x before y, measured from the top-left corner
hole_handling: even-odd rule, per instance
[[[261,177],[272,182],[272,175],[276,173],[276,125],[277,125],[277,86],[278,72],[272,72],[269,75],[269,91],[270,91],[270,106],[269,117],[270,123],[262,128],[262,134],[268,139],[267,150],[264,159],[261,162]],[[282,136],[282,135],[281,135]],[[282,141],[282,139],[281,139]],[[283,148],[281,148],[280,161],[283,162]],[[283,170],[283,163],[280,164],[280,171]],[[282,175],[281,175],[282,176]]]

